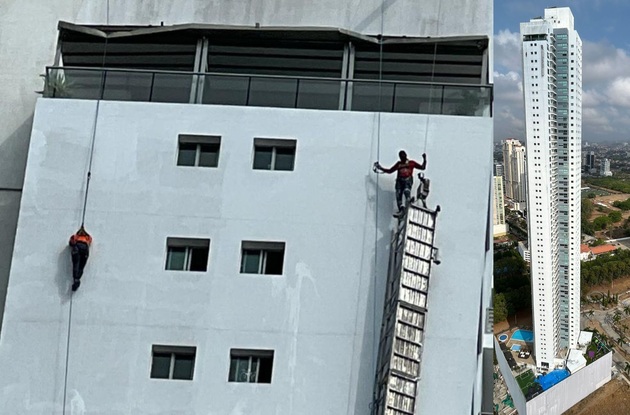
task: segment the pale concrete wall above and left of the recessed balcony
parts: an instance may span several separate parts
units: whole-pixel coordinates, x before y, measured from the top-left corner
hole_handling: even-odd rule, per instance
[[[57,23],[332,26],[362,33],[492,35],[489,0],[38,0],[0,1],[0,315],[40,74],[51,65]],[[490,70],[490,74],[492,71]]]

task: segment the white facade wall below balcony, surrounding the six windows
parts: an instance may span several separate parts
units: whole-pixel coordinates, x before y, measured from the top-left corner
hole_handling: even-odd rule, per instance
[[[37,106],[0,339],[0,373],[11,374],[0,377],[0,413],[61,413],[67,238],[81,219],[95,106]],[[72,302],[68,408],[365,414],[394,225],[393,177],[371,166],[379,154],[388,165],[401,148],[414,158],[426,148],[442,263],[418,412],[469,413],[490,271],[492,119],[382,114],[380,139],[376,127],[372,113],[102,102],[86,214],[95,242]],[[219,167],[177,167],[178,133],[222,136]],[[295,171],[253,171],[254,137],[297,139]],[[210,238],[208,272],[164,271],[168,236]],[[247,239],[285,241],[284,275],[239,274]],[[197,346],[194,381],[149,379],[152,344]],[[228,383],[233,347],[275,349],[272,384]]]

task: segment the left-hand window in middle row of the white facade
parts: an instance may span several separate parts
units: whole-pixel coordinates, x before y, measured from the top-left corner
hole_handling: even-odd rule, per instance
[[[206,271],[210,239],[167,238],[166,269],[169,271]]]

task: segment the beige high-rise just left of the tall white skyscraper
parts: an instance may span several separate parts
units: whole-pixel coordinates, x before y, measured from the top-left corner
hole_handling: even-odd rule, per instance
[[[513,138],[503,140],[503,166],[505,197],[517,209],[525,208],[527,201],[527,165],[525,146]]]

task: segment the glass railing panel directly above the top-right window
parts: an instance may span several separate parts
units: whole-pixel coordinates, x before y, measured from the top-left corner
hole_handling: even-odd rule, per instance
[[[247,105],[295,108],[297,79],[252,78]]]

